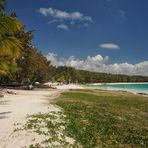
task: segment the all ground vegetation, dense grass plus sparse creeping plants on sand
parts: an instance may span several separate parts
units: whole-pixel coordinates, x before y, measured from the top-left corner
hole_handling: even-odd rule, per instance
[[[126,92],[71,90],[59,112],[30,115],[23,128],[44,137],[36,147],[147,148],[148,98]]]

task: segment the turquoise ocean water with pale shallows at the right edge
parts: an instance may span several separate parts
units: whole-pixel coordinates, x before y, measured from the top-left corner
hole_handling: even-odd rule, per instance
[[[132,93],[148,94],[148,83],[133,83],[133,84],[102,84],[95,87],[105,90],[122,90]]]

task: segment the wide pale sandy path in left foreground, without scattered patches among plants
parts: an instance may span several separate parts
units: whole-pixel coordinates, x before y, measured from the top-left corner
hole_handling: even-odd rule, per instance
[[[0,147],[20,148],[40,142],[44,137],[25,131],[14,132],[24,125],[27,115],[59,111],[47,102],[59,95],[59,90],[15,91],[16,95],[0,98]]]

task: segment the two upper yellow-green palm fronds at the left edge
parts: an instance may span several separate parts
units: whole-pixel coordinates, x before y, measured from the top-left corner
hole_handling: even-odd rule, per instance
[[[0,14],[0,56],[7,54],[16,57],[19,55],[21,42],[14,35],[22,28],[22,23],[16,18]]]

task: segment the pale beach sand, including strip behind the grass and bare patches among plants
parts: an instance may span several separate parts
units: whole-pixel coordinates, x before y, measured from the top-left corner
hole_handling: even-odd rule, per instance
[[[100,91],[94,88],[88,89],[89,87],[85,87],[83,85],[75,85],[75,84],[59,85],[56,87],[57,89],[35,89],[31,91],[9,90],[14,92],[14,94],[5,94],[3,98],[0,98],[0,133],[1,133],[0,146],[1,147],[4,148],[29,147],[30,145],[34,145],[36,143],[42,143],[45,139],[47,139],[48,135],[38,134],[37,132],[34,132],[34,130],[32,129],[22,130],[22,127],[24,127],[26,122],[28,122],[27,118],[30,115],[42,114],[42,115],[49,115],[48,118],[51,118],[54,113],[56,117],[58,117],[59,115],[61,116],[61,113],[63,114],[63,110],[61,110],[60,106],[55,105],[53,102],[56,98],[60,96],[61,93],[69,92],[69,90],[78,91],[78,93],[85,92],[86,94],[89,93],[93,94],[94,92],[95,94],[97,93],[102,97],[104,95],[107,97],[113,96],[115,98],[120,95],[124,95],[125,97],[134,97],[134,96],[140,97],[140,95],[132,95],[126,92],[123,93],[122,91],[120,92],[103,91],[103,90]],[[82,94],[79,94],[79,96],[77,97],[79,98],[81,97],[81,95]],[[65,102],[65,105],[66,104],[67,103]],[[61,122],[63,122],[63,120],[65,119],[63,118]],[[39,120],[37,120],[36,122],[38,121]],[[38,124],[36,122],[35,124]],[[42,130],[47,131],[48,129],[44,128]],[[58,130],[59,129],[57,129],[57,131]],[[65,139],[66,142],[71,144],[73,144],[75,141],[75,139],[67,136]]]

